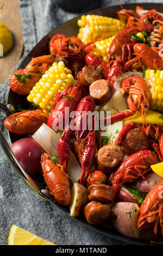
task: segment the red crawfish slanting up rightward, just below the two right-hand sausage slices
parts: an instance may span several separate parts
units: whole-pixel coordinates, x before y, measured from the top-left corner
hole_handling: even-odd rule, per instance
[[[117,191],[125,182],[133,182],[139,176],[151,170],[151,165],[158,163],[158,157],[151,150],[141,150],[125,159],[109,180]]]

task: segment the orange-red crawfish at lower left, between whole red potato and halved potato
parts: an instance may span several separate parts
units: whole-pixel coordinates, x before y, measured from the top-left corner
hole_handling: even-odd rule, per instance
[[[48,190],[61,205],[68,205],[71,200],[68,174],[55,164],[47,153],[41,155],[42,172]]]

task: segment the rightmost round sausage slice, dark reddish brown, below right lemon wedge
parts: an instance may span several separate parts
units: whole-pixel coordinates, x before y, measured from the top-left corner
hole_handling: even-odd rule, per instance
[[[139,128],[130,130],[127,133],[126,138],[122,143],[122,148],[126,155],[132,155],[140,150],[145,150],[149,148],[148,137],[145,132]]]

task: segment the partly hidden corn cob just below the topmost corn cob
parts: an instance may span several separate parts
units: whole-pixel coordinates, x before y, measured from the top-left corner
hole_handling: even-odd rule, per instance
[[[91,53],[94,53],[94,54],[98,55],[99,57],[102,57],[103,60],[106,62],[107,61],[107,53],[109,51],[111,42],[114,38],[115,38],[115,35],[111,36],[110,38],[96,41],[95,42],[96,48]]]

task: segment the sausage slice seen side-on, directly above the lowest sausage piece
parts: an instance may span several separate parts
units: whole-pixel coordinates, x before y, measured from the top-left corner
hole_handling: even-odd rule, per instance
[[[105,184],[92,184],[89,186],[89,199],[97,200],[103,203],[112,203],[114,201],[116,191],[113,187]]]

